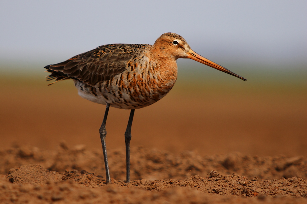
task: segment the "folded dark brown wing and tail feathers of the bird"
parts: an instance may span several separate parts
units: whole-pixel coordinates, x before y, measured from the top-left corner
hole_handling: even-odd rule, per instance
[[[75,79],[88,85],[110,80],[127,69],[127,63],[149,48],[145,44],[110,44],[76,55],[67,61],[47,65],[47,80]]]

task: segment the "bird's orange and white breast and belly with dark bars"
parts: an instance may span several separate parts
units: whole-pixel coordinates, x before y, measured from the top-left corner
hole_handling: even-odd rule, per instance
[[[127,63],[127,69],[110,80],[91,86],[74,80],[78,94],[91,102],[120,109],[139,109],[163,98],[177,79],[177,64],[153,62],[142,55]]]

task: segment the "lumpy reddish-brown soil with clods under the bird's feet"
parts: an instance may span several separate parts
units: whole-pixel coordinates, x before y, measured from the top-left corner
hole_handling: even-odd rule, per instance
[[[101,150],[65,143],[56,150],[29,145],[2,150],[0,202],[307,203],[303,157],[202,157],[194,151],[172,154],[143,147],[131,154],[127,184],[124,149],[109,151],[112,184],[105,184]]]

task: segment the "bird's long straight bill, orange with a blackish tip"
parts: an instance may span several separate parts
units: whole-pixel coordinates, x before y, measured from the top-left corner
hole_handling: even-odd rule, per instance
[[[243,81],[247,80],[244,77],[239,76],[239,75],[235,74],[234,72],[231,72],[230,70],[226,69],[225,67],[222,67],[221,65],[218,65],[218,64],[214,63],[213,61],[210,61],[210,60],[200,56],[199,54],[194,52],[192,49],[190,49],[187,52],[187,54],[188,54],[187,58],[190,58],[192,60],[198,61],[198,62],[200,62],[200,63],[202,63],[204,65],[208,65],[209,67],[212,67],[214,69],[220,70],[220,71],[225,72],[227,74],[230,74],[232,76],[238,77],[238,78],[242,79]]]

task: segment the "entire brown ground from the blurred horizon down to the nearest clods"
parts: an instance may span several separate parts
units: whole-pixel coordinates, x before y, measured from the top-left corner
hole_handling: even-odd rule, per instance
[[[129,184],[129,111],[110,109],[106,185],[105,106],[71,81],[2,77],[0,203],[307,203],[305,83],[177,83],[135,111]]]

